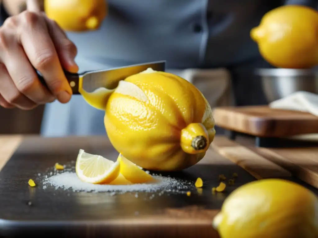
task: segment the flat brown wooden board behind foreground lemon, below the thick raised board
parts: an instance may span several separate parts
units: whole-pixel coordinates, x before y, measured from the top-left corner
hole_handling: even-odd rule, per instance
[[[296,177],[318,188],[318,147],[269,149],[243,146],[226,137],[218,137],[218,140],[212,142],[212,147],[257,179],[279,177],[284,172],[277,168],[285,168],[293,175],[291,180]]]

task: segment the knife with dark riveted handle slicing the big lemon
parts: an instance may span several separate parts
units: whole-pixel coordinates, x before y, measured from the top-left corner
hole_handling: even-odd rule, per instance
[[[103,69],[95,71],[86,71],[81,74],[70,73],[64,70],[67,81],[69,82],[73,95],[80,94],[80,90],[93,92],[98,88],[115,89],[119,81],[124,80],[128,76],[138,74],[148,68],[156,71],[165,71],[166,61],[156,61],[149,63],[134,64],[119,68]],[[41,83],[48,88],[42,74],[36,70]]]

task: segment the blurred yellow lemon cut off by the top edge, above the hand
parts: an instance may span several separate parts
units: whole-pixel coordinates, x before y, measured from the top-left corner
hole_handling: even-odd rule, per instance
[[[98,29],[107,4],[105,0],[45,0],[44,10],[64,30],[86,31]]]

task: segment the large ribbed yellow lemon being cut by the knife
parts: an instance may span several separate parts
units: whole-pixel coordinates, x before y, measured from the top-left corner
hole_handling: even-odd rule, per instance
[[[114,148],[149,170],[196,164],[215,135],[202,93],[181,77],[152,69],[120,81],[108,99],[104,122]]]

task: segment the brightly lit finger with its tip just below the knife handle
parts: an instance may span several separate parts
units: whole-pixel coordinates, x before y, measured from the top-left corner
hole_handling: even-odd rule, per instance
[[[26,56],[41,72],[52,94],[60,102],[68,102],[72,89],[62,70],[46,22],[32,12],[22,13],[21,18],[23,30],[20,33],[20,42]]]

